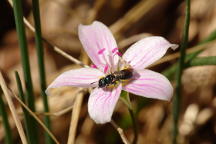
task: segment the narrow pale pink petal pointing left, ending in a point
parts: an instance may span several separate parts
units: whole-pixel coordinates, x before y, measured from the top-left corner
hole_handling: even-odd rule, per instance
[[[104,74],[95,68],[81,68],[69,70],[58,76],[47,88],[60,86],[96,87],[100,77]]]

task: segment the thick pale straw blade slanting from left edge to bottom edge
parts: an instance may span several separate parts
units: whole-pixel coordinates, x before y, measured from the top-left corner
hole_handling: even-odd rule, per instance
[[[21,122],[19,120],[19,116],[18,116],[18,114],[16,112],[16,109],[15,109],[15,106],[14,106],[14,104],[12,102],[12,99],[11,99],[9,93],[8,93],[8,88],[6,86],[6,83],[5,83],[5,80],[4,80],[3,76],[2,76],[1,71],[0,71],[0,85],[2,87],[3,93],[4,93],[5,98],[7,100],[8,106],[9,106],[9,108],[11,110],[11,113],[12,113],[13,119],[15,121],[15,124],[16,124],[17,130],[18,130],[18,133],[20,135],[21,141],[22,141],[23,144],[27,144],[27,139],[26,139],[22,124],[21,124]]]

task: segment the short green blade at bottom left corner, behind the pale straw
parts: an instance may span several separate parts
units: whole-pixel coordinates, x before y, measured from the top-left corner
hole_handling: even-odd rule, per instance
[[[5,110],[5,105],[2,99],[2,89],[0,87],[0,115],[2,117],[2,124],[5,130],[5,144],[13,144],[11,128],[9,125],[7,112]]]

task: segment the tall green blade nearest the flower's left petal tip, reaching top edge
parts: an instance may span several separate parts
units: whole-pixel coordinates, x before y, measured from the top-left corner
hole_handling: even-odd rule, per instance
[[[39,74],[40,74],[41,95],[43,99],[44,112],[49,112],[48,99],[45,93],[46,75],[45,75],[45,66],[44,66],[44,48],[43,48],[43,42],[41,36],[42,34],[41,34],[41,24],[40,24],[39,1],[32,0],[32,6],[33,6],[33,16],[34,16],[34,23],[35,23],[35,39],[36,39],[36,48],[37,48],[37,57],[38,57],[38,67],[39,67]],[[45,116],[44,121],[47,128],[51,129],[49,116]],[[45,133],[45,141],[46,144],[53,143],[51,137],[47,133]]]

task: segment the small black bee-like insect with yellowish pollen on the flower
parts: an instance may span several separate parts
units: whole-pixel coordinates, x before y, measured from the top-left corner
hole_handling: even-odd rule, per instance
[[[116,84],[118,81],[121,80],[128,80],[132,78],[133,76],[133,69],[128,68],[128,69],[123,69],[120,71],[116,71],[114,73],[111,73],[98,81],[98,87],[99,88],[104,88],[112,84]]]

